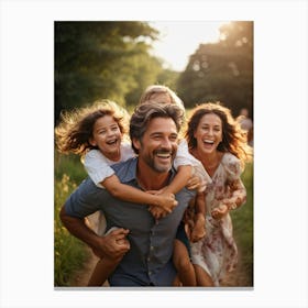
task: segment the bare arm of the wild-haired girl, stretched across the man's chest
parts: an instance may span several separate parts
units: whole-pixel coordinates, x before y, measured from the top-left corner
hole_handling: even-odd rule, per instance
[[[164,193],[163,195],[147,194],[135,187],[122,184],[117,175],[107,177],[100,183],[113,197],[129,202],[154,205],[170,212],[177,206],[173,193]]]

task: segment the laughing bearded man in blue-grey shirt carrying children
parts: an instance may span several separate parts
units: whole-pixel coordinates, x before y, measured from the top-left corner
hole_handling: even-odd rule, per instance
[[[113,165],[120,180],[143,190],[160,190],[175,177],[173,161],[177,152],[183,110],[175,105],[143,103],[132,114],[130,136],[138,157]],[[103,257],[121,260],[109,277],[110,286],[172,286],[176,271],[172,263],[177,227],[195,191],[176,194],[177,207],[155,220],[146,206],[113,198],[108,190],[86,179],[67,199],[61,219],[72,234],[86,242]],[[102,210],[107,230],[97,235],[85,223],[85,217]],[[127,244],[118,241],[127,239]]]

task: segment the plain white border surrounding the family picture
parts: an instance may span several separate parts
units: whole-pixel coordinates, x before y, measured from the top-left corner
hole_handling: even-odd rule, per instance
[[[0,12],[1,307],[308,306],[306,1],[2,0]],[[254,21],[253,290],[54,289],[56,20]]]

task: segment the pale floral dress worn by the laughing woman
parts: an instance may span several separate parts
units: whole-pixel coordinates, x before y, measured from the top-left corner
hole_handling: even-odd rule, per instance
[[[240,175],[240,161],[234,155],[224,153],[212,176],[212,183],[208,184],[205,191],[207,234],[200,241],[190,243],[193,263],[201,266],[211,276],[215,286],[219,286],[227,272],[234,270],[238,248],[233,239],[230,215],[216,220],[211,217],[211,211],[222,200],[238,199],[241,205],[245,202],[246,190]]]

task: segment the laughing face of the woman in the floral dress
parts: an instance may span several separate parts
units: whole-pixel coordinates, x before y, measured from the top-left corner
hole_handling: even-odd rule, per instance
[[[212,153],[222,141],[221,119],[215,113],[207,113],[201,119],[194,133],[197,148],[204,153]]]

